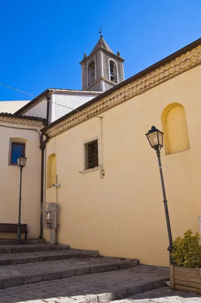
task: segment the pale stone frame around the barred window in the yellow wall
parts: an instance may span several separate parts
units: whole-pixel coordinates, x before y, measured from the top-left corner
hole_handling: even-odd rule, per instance
[[[86,168],[87,167],[87,163],[86,163],[86,146],[90,143],[93,143],[94,141],[97,141],[97,166],[95,166],[94,168]],[[83,171],[82,174],[86,174],[86,173],[90,173],[96,170],[100,170],[102,169],[101,166],[101,159],[100,159],[100,144],[99,144],[99,137],[96,136],[94,138],[91,138],[89,140],[86,140],[83,142]]]

